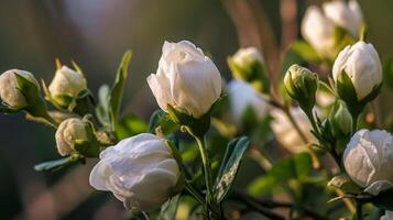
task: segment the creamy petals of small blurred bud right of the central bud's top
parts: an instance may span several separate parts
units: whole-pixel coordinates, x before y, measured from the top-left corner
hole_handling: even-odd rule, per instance
[[[253,63],[264,64],[263,57],[258,48],[245,47],[240,48],[233,56],[232,62],[241,67],[251,66]]]

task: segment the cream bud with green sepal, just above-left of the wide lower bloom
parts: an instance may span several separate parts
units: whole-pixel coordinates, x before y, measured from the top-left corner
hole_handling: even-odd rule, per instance
[[[84,156],[98,155],[98,145],[94,142],[92,130],[85,120],[66,119],[56,131],[57,151],[62,156],[79,153]]]

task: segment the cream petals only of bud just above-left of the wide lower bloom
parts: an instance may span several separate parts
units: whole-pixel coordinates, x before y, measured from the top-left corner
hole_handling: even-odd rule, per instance
[[[62,156],[69,155],[76,151],[76,144],[89,141],[86,129],[87,124],[80,119],[73,118],[63,121],[55,135],[58,153]]]

